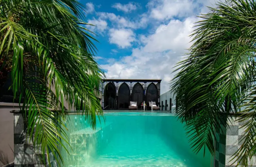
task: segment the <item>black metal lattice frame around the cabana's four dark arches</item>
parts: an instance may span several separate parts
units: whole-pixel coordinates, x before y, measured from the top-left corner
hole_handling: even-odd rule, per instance
[[[141,86],[143,87],[143,101],[146,101],[146,90],[148,88],[148,86],[153,83],[155,84],[157,90],[158,90],[158,94],[157,94],[157,99],[158,101],[156,101],[157,105],[160,105],[160,83],[161,83],[161,80],[124,80],[124,79],[104,79],[102,80],[102,83],[101,83],[101,88],[100,88],[100,91],[102,92],[102,98],[101,98],[101,106],[102,107],[105,107],[104,106],[104,94],[105,94],[105,87],[106,85],[109,83],[109,82],[112,82],[114,85],[115,85],[115,88],[116,88],[116,97],[115,97],[115,106],[116,106],[116,110],[118,109],[118,90],[119,90],[119,86],[123,83],[126,83],[130,89],[130,97],[129,99],[131,100],[131,96],[132,96],[132,89],[134,87],[135,84],[139,83],[141,84]],[[148,102],[148,101],[147,101]]]

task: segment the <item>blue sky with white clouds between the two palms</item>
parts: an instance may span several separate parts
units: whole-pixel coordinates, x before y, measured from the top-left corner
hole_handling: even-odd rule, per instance
[[[97,62],[108,79],[161,79],[169,89],[175,64],[192,43],[196,15],[214,0],[94,0],[86,6],[86,22],[95,26]]]

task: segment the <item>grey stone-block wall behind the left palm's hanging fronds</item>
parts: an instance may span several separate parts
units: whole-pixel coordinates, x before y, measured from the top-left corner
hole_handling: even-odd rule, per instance
[[[26,128],[22,114],[14,113],[14,165],[15,167],[45,167],[42,160],[44,158],[48,163],[47,156],[38,151],[37,147],[41,148],[40,145],[34,147],[33,137],[29,137]],[[51,165],[57,167],[52,153],[49,157]]]

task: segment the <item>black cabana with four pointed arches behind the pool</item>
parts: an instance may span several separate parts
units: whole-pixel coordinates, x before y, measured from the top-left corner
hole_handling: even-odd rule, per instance
[[[136,101],[138,109],[143,101],[160,105],[161,80],[104,79],[101,83],[101,103],[104,110],[128,110],[130,101]]]

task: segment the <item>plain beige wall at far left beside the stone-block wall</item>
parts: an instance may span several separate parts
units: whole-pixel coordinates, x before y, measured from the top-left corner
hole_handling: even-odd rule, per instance
[[[17,103],[0,102],[0,167],[14,162],[13,113]]]

